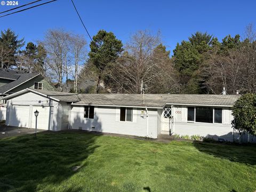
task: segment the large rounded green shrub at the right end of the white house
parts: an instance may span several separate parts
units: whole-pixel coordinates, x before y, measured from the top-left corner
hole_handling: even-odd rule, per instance
[[[256,136],[256,94],[247,93],[242,95],[232,108],[234,119],[232,127],[239,132],[246,131]]]

